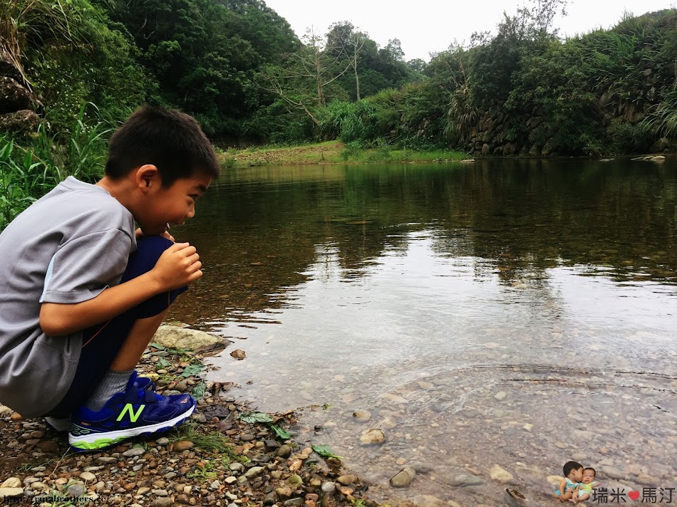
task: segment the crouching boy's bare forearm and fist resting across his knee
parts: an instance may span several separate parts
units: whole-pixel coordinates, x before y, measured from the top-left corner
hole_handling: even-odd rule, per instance
[[[95,298],[73,304],[42,303],[40,327],[47,336],[64,336],[110,320],[156,294],[200,278],[199,258],[194,246],[173,244],[148,273],[107,288]]]

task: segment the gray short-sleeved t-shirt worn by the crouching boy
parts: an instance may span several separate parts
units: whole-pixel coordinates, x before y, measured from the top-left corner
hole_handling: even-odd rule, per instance
[[[0,402],[24,417],[56,407],[82,333],[47,337],[41,303],[81,303],[120,283],[134,218],[101,187],[68,177],[0,234]]]

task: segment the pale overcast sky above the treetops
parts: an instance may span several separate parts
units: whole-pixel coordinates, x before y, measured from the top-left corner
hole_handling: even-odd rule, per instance
[[[351,21],[384,47],[391,38],[402,43],[405,60],[423,58],[443,51],[456,39],[469,41],[474,31],[496,33],[502,12],[515,14],[526,2],[499,0],[265,0],[267,6],[289,21],[300,37],[311,26],[324,34],[331,23]],[[559,16],[556,25],[561,33],[574,35],[594,28],[609,28],[624,11],[639,15],[668,9],[676,0],[572,0],[568,16]]]

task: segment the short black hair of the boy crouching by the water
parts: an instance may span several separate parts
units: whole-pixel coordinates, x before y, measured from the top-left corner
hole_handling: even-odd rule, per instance
[[[194,118],[150,105],[135,110],[110,138],[105,174],[120,179],[145,164],[157,167],[162,187],[197,170],[212,178],[221,172],[212,143]]]

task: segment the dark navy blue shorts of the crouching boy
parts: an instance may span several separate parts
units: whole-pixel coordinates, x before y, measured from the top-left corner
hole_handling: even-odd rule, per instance
[[[120,283],[148,273],[153,269],[162,252],[172,244],[172,241],[160,236],[138,239],[138,249],[130,255],[127,269]],[[125,343],[135,321],[162,313],[170,307],[180,293],[187,290],[188,287],[183,286],[174,291],[157,294],[106,323],[83,330],[80,360],[71,387],[68,388],[61,402],[58,402],[56,407],[46,415],[68,417],[71,412],[81,407],[103,380],[103,376],[108,372],[115,356]]]

